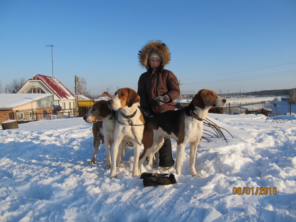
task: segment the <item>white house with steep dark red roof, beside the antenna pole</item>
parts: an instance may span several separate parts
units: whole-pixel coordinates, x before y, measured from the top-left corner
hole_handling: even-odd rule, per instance
[[[54,94],[54,105],[65,109],[75,107],[75,95],[59,80],[46,75],[35,75],[30,78],[17,93]]]

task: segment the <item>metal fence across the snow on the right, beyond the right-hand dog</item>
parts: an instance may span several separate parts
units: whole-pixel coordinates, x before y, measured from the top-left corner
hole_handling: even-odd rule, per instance
[[[291,101],[270,101],[261,103],[230,104],[226,103],[223,113],[228,114],[263,114],[263,115],[294,115],[296,103]]]

